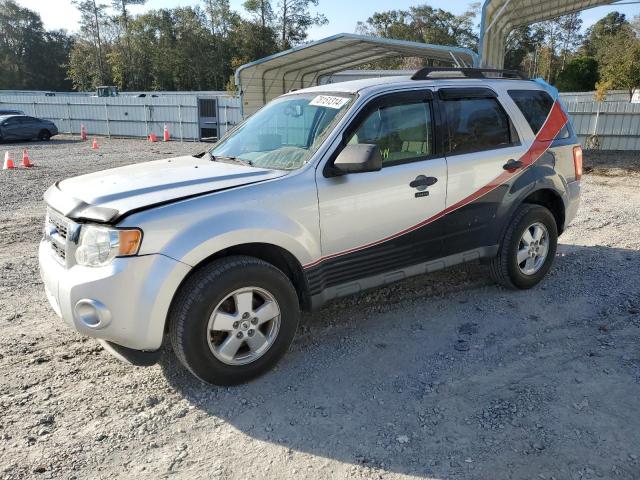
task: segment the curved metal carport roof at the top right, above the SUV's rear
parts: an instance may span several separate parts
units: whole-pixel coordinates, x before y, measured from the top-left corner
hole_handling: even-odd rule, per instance
[[[503,67],[507,35],[516,27],[611,3],[615,0],[486,0],[480,22],[481,65]]]

